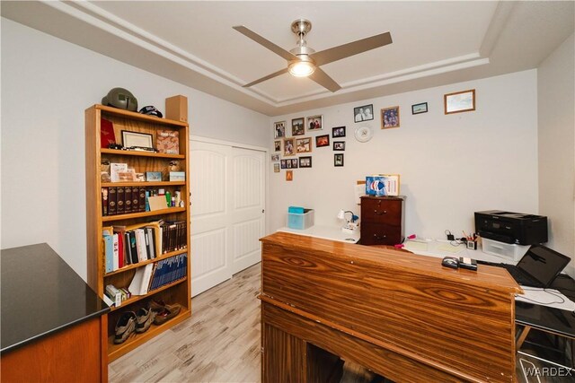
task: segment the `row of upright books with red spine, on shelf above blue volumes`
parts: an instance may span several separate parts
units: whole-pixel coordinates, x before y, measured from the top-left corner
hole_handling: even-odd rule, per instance
[[[149,222],[103,229],[104,272],[187,248],[186,222]]]

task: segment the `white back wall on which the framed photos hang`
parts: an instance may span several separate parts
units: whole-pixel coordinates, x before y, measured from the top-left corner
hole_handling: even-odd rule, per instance
[[[476,110],[444,115],[443,95],[468,89],[475,89]],[[333,126],[347,126],[343,168],[333,167],[332,147],[314,147],[313,168],[294,170],[293,181],[285,180],[286,170],[270,170],[270,229],[285,225],[289,205],[314,208],[316,224],[340,224],[339,209],[359,213],[356,180],[373,173],[401,174],[407,234],[462,236],[474,229],[473,212],[482,210],[538,213],[536,91],[530,70],[270,118],[273,129],[274,121],[289,125],[291,118],[323,114],[323,130],[313,136],[331,137]],[[411,115],[411,105],[420,102],[428,102],[429,112]],[[376,118],[367,124],[375,134],[360,144],[353,108],[372,103]],[[401,126],[381,130],[379,110],[396,105]]]

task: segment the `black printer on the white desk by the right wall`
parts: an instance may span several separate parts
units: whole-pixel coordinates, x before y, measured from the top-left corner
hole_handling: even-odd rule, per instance
[[[500,210],[475,212],[475,231],[500,242],[536,245],[547,241],[547,217]]]

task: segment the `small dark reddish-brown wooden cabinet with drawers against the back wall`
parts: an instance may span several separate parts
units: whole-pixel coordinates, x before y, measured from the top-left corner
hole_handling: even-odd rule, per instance
[[[405,196],[361,197],[361,244],[402,243]]]

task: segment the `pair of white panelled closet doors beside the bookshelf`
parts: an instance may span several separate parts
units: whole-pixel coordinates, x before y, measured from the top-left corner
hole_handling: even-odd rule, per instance
[[[190,141],[191,295],[261,260],[265,152]]]

